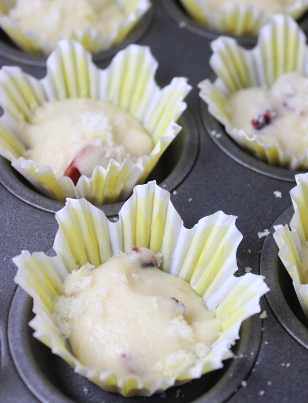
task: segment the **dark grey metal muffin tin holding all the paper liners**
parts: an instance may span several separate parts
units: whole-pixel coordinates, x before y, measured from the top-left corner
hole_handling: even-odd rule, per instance
[[[155,7],[151,12],[155,15],[138,43],[150,46],[160,63],[157,82],[164,86],[174,76],[186,76],[194,87],[186,99],[185,130],[176,139],[178,143],[172,143],[172,148],[170,146],[167,151],[170,153],[166,153],[162,159],[164,163],[153,172],[152,179],[172,190],[172,203],[186,227],[194,226],[200,218],[218,210],[237,215],[237,226],[244,236],[238,248],[237,275],[243,275],[247,267],[258,274],[261,264],[261,273],[268,279],[272,291],[267,300],[262,299],[262,310],[266,311],[267,318],[261,320],[259,315],[255,315],[242,325],[241,338],[234,347],[237,359],[225,362],[222,370],[172,388],[165,394],[133,400],[200,403],[306,401],[308,391],[303,375],[308,351],[302,346],[306,347],[304,335],[308,330],[296,305],[290,287],[292,282],[279,263],[274,240],[268,236],[262,248],[264,238],[258,237],[259,232],[270,228],[290,207],[288,192],[294,187],[295,172],[269,167],[246,154],[226,137],[218,123],[210,121],[199,101],[197,88],[201,80],[213,74],[208,65],[210,40],[206,35],[182,29],[183,24],[182,28],[179,27],[176,14],[171,13],[172,7],[179,7],[175,0],[152,1]],[[183,10],[180,12],[183,14]],[[7,48],[1,45],[0,49],[1,66],[18,64],[37,78],[45,75],[42,65],[31,65],[27,57],[13,61]],[[95,60],[100,67],[106,67],[109,61]],[[213,136],[214,130],[221,137]],[[174,154],[176,158],[172,162]],[[11,258],[23,249],[52,254],[50,247],[57,229],[53,213],[63,204],[56,205],[57,202],[30,189],[5,160],[1,160],[0,165],[0,181],[4,185],[0,185],[0,401],[115,403],[127,400],[103,392],[74,374],[62,360],[32,338],[27,325],[31,317],[31,301],[13,283],[16,268]],[[277,190],[281,191],[282,198],[275,197],[273,192]],[[120,206],[110,205],[103,209],[113,220]],[[292,207],[280,217],[279,223],[290,221],[291,210]],[[271,243],[274,243],[272,247]],[[284,309],[280,306],[278,312],[280,302]]]

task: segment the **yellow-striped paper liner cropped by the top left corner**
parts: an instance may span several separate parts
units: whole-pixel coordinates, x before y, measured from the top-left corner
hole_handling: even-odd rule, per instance
[[[104,35],[94,28],[84,30],[72,29],[67,36],[59,35],[55,42],[42,42],[36,33],[27,31],[19,22],[12,20],[7,14],[14,7],[14,0],[0,0],[0,27],[15,44],[31,54],[48,56],[56,47],[57,41],[71,39],[81,43],[91,53],[110,48],[125,39],[131,29],[151,7],[150,0],[118,0],[116,3],[123,9],[125,20],[110,35]]]

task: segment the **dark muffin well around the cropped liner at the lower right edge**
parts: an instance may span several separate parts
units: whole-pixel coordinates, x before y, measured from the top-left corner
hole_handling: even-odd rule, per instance
[[[266,283],[271,289],[266,294],[266,299],[275,316],[284,329],[308,350],[308,319],[302,311],[292,279],[278,256],[279,248],[272,235],[275,232],[275,225],[290,222],[293,215],[294,208],[291,206],[271,227],[271,235],[265,238],[262,246],[260,273],[265,276]]]

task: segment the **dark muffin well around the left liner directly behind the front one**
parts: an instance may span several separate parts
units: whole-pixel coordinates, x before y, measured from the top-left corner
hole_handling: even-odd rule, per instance
[[[174,141],[171,142],[149,180],[156,180],[165,190],[172,191],[187,177],[195,164],[199,150],[199,133],[192,114],[185,110],[179,119],[183,127]],[[64,203],[52,200],[38,193],[38,191],[12,166],[10,161],[0,157],[0,183],[18,199],[40,208],[48,213],[56,213],[64,207]],[[98,206],[107,217],[118,215],[124,202]]]

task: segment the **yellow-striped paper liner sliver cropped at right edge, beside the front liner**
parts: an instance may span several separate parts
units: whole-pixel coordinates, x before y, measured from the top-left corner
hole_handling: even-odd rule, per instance
[[[295,179],[297,186],[290,192],[294,216],[290,227],[275,226],[274,238],[279,247],[278,255],[293,280],[302,310],[308,317],[308,284],[303,281],[308,266],[301,263],[303,248],[308,241],[308,174],[296,175]]]

